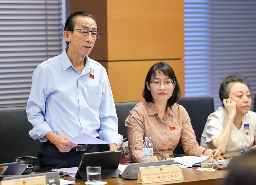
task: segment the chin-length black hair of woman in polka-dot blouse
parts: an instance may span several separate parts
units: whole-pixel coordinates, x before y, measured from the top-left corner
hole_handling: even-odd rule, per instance
[[[168,76],[171,80],[176,82],[175,88],[173,90],[173,95],[171,96],[171,98],[167,100],[167,106],[170,107],[175,102],[177,102],[178,99],[180,98],[181,90],[179,88],[178,80],[173,72],[173,69],[166,62],[157,62],[149,69],[149,72],[147,73],[146,80],[145,80],[144,90],[142,93],[143,98],[146,100],[146,102],[153,102],[153,97],[151,95],[151,92],[147,89],[147,82],[150,84],[151,76],[153,75],[155,77],[157,71],[158,72],[161,71],[163,74]]]

